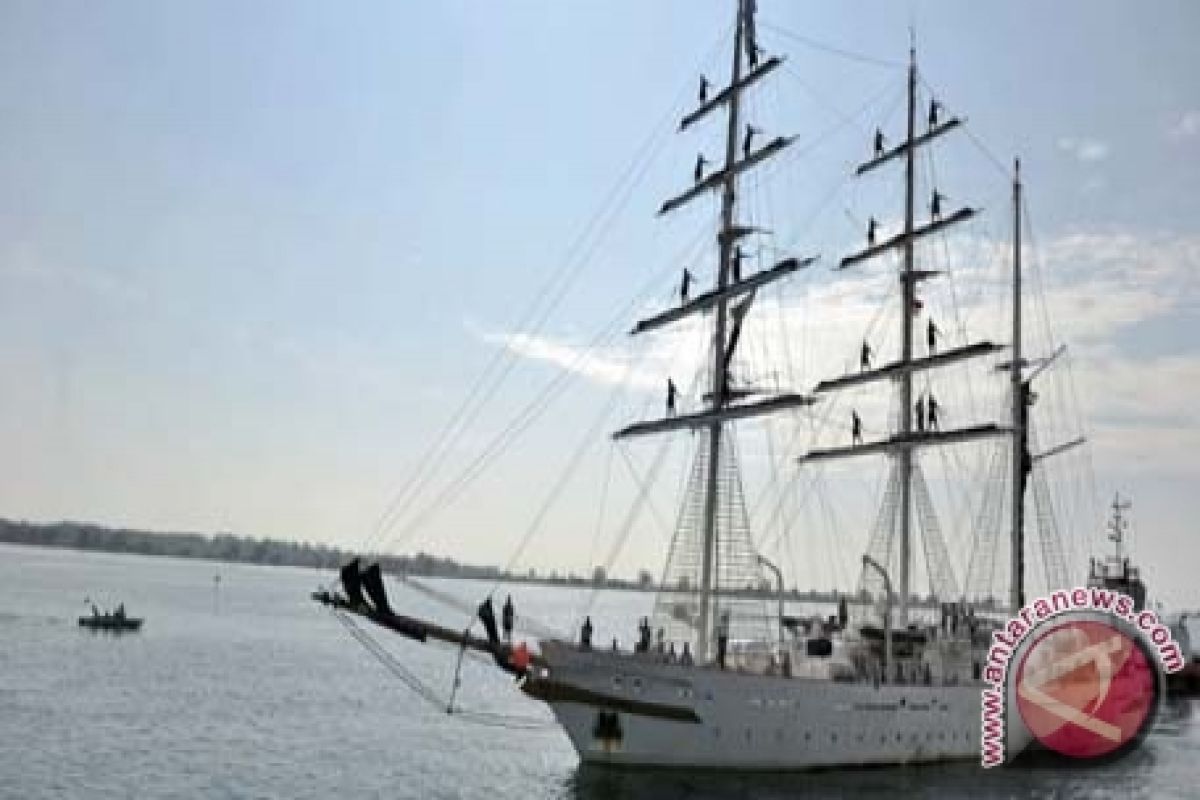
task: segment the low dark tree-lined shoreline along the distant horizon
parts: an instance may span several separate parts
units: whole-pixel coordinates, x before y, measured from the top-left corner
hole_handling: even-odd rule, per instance
[[[251,536],[235,536],[226,533],[215,535],[157,533],[127,528],[106,528],[103,525],[77,522],[31,523],[0,519],[0,543],[324,570],[337,570],[355,557],[355,554],[336,547],[311,545],[307,542],[253,539]],[[384,572],[415,578],[500,581],[505,583],[528,583],[551,587],[625,589],[655,593],[662,589],[646,570],[642,570],[637,579],[628,581],[608,577],[604,575],[602,570],[596,570],[590,578],[570,573],[560,576],[557,572],[548,576],[538,575],[533,570],[523,573],[514,573],[494,566],[460,564],[454,559],[428,555],[426,553],[416,553],[415,555],[371,555],[367,557],[367,560],[378,560]],[[680,593],[689,591],[686,588],[673,590]],[[731,594],[778,596],[773,587],[748,587],[743,591]],[[856,600],[852,593],[800,591],[794,588],[785,590],[785,597],[796,602],[823,604],[835,604],[842,597],[851,601]],[[918,607],[928,606],[929,603],[929,599],[922,597],[913,597],[912,602],[913,606]]]

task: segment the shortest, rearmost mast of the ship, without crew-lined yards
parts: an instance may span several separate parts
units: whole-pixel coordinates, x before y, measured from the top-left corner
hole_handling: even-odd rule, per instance
[[[1009,606],[1013,613],[1025,606],[1025,475],[1026,475],[1026,384],[1021,379],[1021,162],[1013,163],[1013,360],[1009,381],[1013,402],[1013,537]]]

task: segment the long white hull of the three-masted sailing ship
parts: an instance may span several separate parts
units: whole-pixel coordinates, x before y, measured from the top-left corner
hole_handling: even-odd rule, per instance
[[[586,763],[803,770],[979,757],[979,685],[752,675],[560,643],[544,655],[558,690],[544,699]]]

